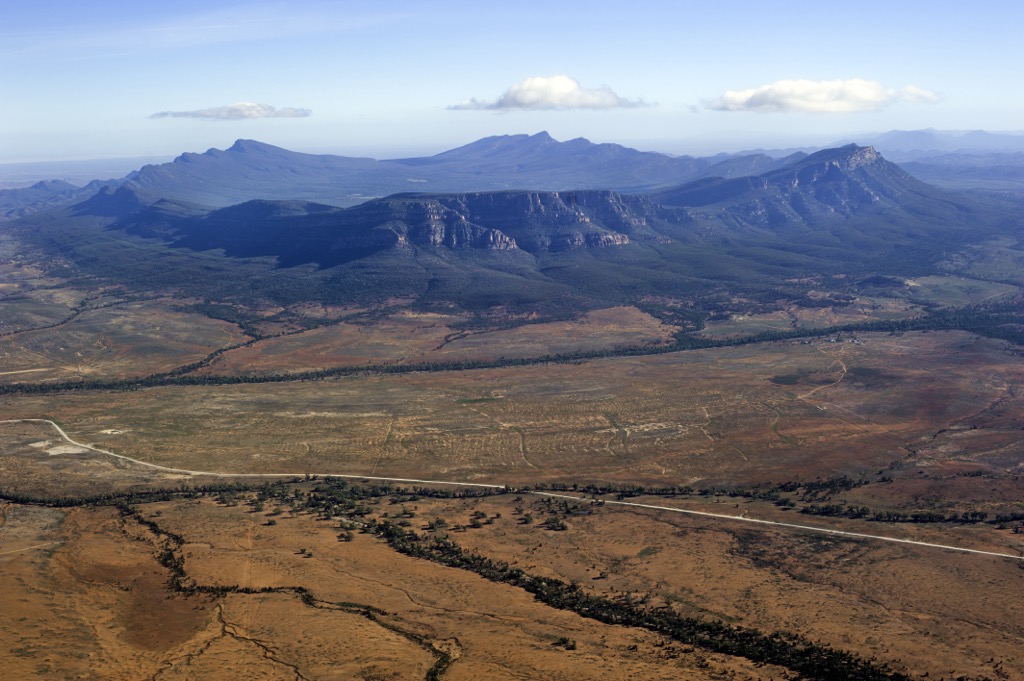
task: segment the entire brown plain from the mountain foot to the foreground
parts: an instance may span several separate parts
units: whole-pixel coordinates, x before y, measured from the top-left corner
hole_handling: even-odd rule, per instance
[[[7,385],[203,360],[195,373],[206,377],[493,360],[652,347],[676,331],[626,307],[486,329],[408,310],[368,320],[307,309],[268,311],[269,335],[255,338],[169,297],[77,291],[27,265],[3,267]],[[909,309],[871,304],[856,314]],[[737,317],[708,333],[814,326],[828,313]],[[870,333],[464,371],[3,394],[0,667],[11,679],[800,676],[602,624],[362,531],[402,518],[423,536],[652,612],[794,632],[910,678],[1024,678],[1024,523],[1012,519],[1024,511],[1020,352],[962,332]],[[358,514],[296,501],[328,475],[514,490],[415,501],[392,491]],[[256,488],[293,478],[288,500]],[[843,480],[856,484],[828,487]],[[677,490],[595,495],[584,490],[592,483]],[[551,485],[572,499],[531,488]],[[216,488],[114,505],[113,495],[203,486]],[[776,496],[730,496],[737,487]],[[870,513],[806,512],[822,504]]]

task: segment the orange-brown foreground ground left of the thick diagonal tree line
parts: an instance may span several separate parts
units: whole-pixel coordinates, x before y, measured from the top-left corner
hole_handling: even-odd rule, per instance
[[[394,553],[333,523],[210,501],[146,505],[181,535],[200,584],[295,593],[183,597],[156,538],[111,509],[0,507],[0,641],[9,678],[755,679],[779,670],[673,644],[536,602],[474,574]],[[368,608],[375,614],[368,615]],[[379,608],[379,610],[377,609]],[[574,649],[559,645],[571,639]],[[59,641],[60,645],[53,645]]]

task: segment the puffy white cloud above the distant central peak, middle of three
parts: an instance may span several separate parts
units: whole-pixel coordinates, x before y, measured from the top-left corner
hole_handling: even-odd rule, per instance
[[[624,99],[607,87],[585,88],[568,76],[535,76],[516,83],[494,101],[474,98],[449,109],[623,109],[644,105],[639,99]]]

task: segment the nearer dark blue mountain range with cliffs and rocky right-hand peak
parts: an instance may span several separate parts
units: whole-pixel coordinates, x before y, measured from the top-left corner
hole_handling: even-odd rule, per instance
[[[578,309],[825,272],[915,275],[993,233],[998,217],[856,145],[648,194],[398,194],[351,208],[258,200],[212,211],[156,196],[125,186],[18,224],[90,273],[196,295]]]

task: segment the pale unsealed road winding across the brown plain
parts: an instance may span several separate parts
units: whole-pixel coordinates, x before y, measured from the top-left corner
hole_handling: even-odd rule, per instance
[[[89,444],[83,444],[82,442],[76,442],[73,440],[63,429],[58,426],[53,421],[49,419],[10,419],[7,421],[0,421],[0,424],[4,423],[45,423],[51,426],[57,433],[60,434],[65,440],[75,446],[80,446],[90,452],[96,452],[97,454],[103,454],[110,457],[115,457],[123,461],[129,461],[133,464],[138,464],[140,466],[146,466],[155,470],[163,471],[165,473],[177,473],[179,475],[210,475],[214,477],[256,477],[256,478],[294,478],[294,477],[304,477],[305,475],[317,475],[319,477],[341,477],[348,479],[357,480],[379,480],[381,482],[413,482],[420,484],[444,484],[461,487],[484,487],[488,490],[504,490],[506,485],[501,484],[486,484],[482,482],[453,482],[452,480],[421,480],[417,478],[407,478],[407,477],[381,477],[376,475],[344,475],[339,473],[222,473],[222,472],[211,472],[211,471],[197,471],[187,470],[183,468],[169,468],[167,466],[159,466],[157,464],[151,464],[145,461],[139,461],[138,459],[132,459],[130,457],[125,457],[120,454],[114,454],[113,452],[108,452],[106,450],[100,450]],[[559,494],[554,492],[537,492],[537,491],[522,491],[524,494],[537,495],[540,497],[552,497],[555,499],[568,499],[572,501],[581,502],[594,502],[594,499],[590,497],[578,497],[574,495]],[[838,537],[851,537],[854,539],[865,539],[873,540],[878,542],[893,542],[896,544],[910,544],[913,546],[921,546],[930,549],[945,549],[947,551],[957,551],[961,553],[972,553],[984,556],[994,556],[997,558],[1010,558],[1012,560],[1024,561],[1024,555],[1014,555],[1011,553],[998,553],[995,551],[982,551],[980,549],[968,549],[961,546],[950,546],[947,544],[933,544],[931,542],[919,542],[909,539],[899,539],[896,537],[885,537],[883,535],[866,535],[863,533],[851,533],[843,529],[829,529],[827,527],[815,527],[814,525],[801,525],[794,522],[781,522],[778,520],[761,520],[758,518],[748,518],[739,515],[729,515],[726,513],[712,513],[710,511],[693,511],[690,509],[674,508],[672,506],[657,506],[654,504],[640,504],[638,502],[623,502],[623,501],[610,501],[601,500],[601,503],[608,504],[612,506],[626,506],[631,508],[642,508],[654,511],[667,511],[669,513],[683,513],[685,515],[697,515],[706,518],[715,518],[718,520],[731,520],[734,522],[749,522],[758,525],[772,525],[775,527],[784,527],[787,529],[798,529],[801,531],[811,531],[820,533],[823,535],[834,535]]]

